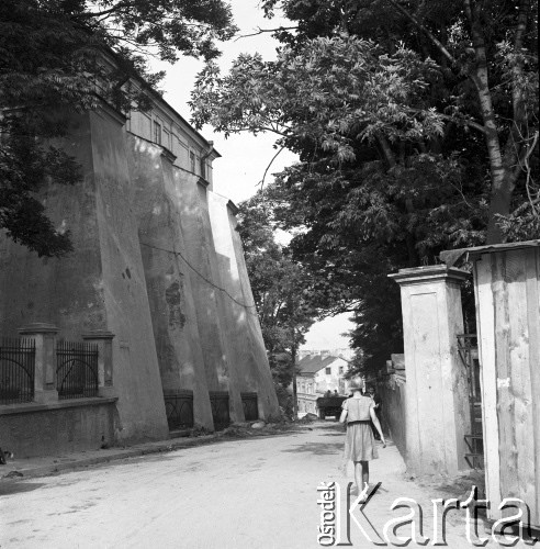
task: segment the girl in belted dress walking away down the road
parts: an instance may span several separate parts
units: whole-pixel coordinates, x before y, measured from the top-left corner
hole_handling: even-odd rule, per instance
[[[344,461],[351,460],[355,462],[355,481],[358,486],[358,493],[363,493],[365,497],[369,492],[370,482],[370,461],[379,458],[376,452],[373,433],[371,430],[370,419],[373,422],[383,448],[386,448],[381,424],[375,414],[375,403],[370,396],[362,395],[362,381],[353,379],[350,383],[352,396],[347,399],[341,412],[340,423],[347,421],[347,437],[345,440]]]

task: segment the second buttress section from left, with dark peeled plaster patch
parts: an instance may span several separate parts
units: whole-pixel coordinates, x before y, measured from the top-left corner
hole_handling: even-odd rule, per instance
[[[193,391],[194,423],[212,429],[191,270],[181,257],[187,257],[177,188],[181,179],[175,178],[177,168],[161,156],[160,147],[130,136],[128,148],[131,180],[135,188],[133,208],[162,389],[165,393]]]

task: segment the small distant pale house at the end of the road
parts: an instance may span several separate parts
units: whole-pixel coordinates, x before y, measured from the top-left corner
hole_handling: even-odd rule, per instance
[[[296,400],[299,416],[307,413],[316,414],[316,401],[327,391],[339,395],[348,392],[348,382],[345,380],[349,365],[341,357],[326,354],[307,355],[299,362],[300,374],[296,377]]]

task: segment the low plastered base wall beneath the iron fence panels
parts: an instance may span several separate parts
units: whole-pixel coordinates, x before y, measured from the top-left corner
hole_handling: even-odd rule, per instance
[[[56,406],[19,406],[16,413],[0,406],[0,439],[15,458],[97,450],[114,441],[117,418],[114,402],[83,405],[63,402]],[[2,410],[4,408],[4,410]]]

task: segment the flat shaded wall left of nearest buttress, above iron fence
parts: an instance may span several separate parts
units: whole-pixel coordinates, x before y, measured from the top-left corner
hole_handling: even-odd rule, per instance
[[[0,237],[0,334],[16,337],[18,328],[34,322],[60,327],[60,336],[105,325],[102,258],[93,177],[89,116],[71,120],[65,148],[82,169],[75,186],[49,186],[41,194],[56,226],[71,232],[76,250],[63,259],[38,258]]]

